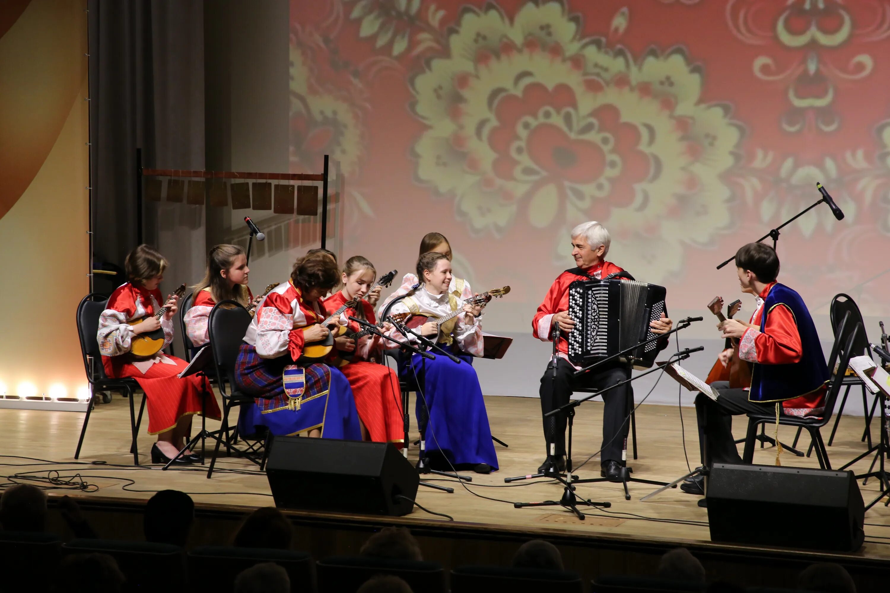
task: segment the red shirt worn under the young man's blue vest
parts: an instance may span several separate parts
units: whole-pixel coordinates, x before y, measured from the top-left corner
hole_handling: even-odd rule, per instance
[[[761,319],[764,312],[764,301],[766,295],[770,293],[775,281],[767,284],[759,295],[757,295],[757,309],[751,316],[750,323],[760,327]],[[800,333],[797,332],[797,322],[791,309],[780,305],[775,307],[768,317],[766,317],[766,325],[764,331],[749,327],[742,334],[739,341],[739,357],[747,360],[749,363],[757,363],[760,365],[792,365],[800,362],[804,349],[800,343]],[[820,389],[805,396],[795,397],[782,402],[784,412],[796,416],[808,416],[821,413],[825,405],[825,393],[828,386],[823,385]],[[778,399],[778,398],[777,398]]]

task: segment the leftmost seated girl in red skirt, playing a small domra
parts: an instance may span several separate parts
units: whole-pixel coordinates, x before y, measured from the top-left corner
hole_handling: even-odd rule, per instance
[[[125,269],[129,282],[111,293],[106,309],[99,318],[97,339],[102,354],[102,365],[109,377],[132,377],[145,392],[149,410],[149,434],[158,435],[151,447],[152,463],[166,463],[185,445],[191,427],[191,416],[201,413],[201,403],[207,418],[220,420],[219,405],[213,389],[205,377],[190,375],[180,379],[186,363],[159,351],[154,357],[138,358],[131,354],[133,339],[162,328],[164,347],[173,341],[173,317],[177,297],[166,301],[166,313],[158,320],[155,312],[164,302],[158,284],[164,279],[167,261],[148,245],[139,245],[126,256]],[[145,317],[141,324],[133,321]],[[199,458],[190,451],[178,463],[193,463]]]

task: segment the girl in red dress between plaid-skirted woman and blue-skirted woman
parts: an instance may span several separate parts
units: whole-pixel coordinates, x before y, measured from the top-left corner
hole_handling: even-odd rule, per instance
[[[356,255],[346,260],[343,268],[343,289],[325,299],[325,309],[336,311],[347,301],[358,305],[346,309],[341,323],[348,324],[348,332],[337,339],[338,348],[352,353],[352,362],[340,367],[352,386],[355,407],[359,410],[362,436],[378,443],[394,443],[400,447],[405,442],[405,429],[401,416],[401,391],[399,377],[386,365],[378,364],[383,355],[383,341],[370,334],[358,341],[348,337],[362,328],[349,317],[367,319],[376,323],[374,306],[380,298],[380,287],[368,292],[376,278],[376,269],[367,259]],[[389,324],[385,324],[389,330]]]

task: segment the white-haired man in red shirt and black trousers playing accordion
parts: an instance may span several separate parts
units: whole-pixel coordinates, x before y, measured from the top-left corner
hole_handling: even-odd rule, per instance
[[[542,341],[550,341],[550,332],[554,322],[559,323],[561,330],[557,341],[559,360],[556,367],[556,380],[553,380],[549,369],[541,377],[541,412],[548,413],[569,402],[575,387],[606,389],[625,381],[630,377],[630,368],[623,363],[606,365],[576,381],[572,373],[578,367],[569,362],[568,342],[566,333],[575,326],[575,320],[569,316],[569,285],[576,280],[602,279],[611,274],[624,271],[610,261],[606,261],[611,237],[602,224],[592,220],[579,224],[571,231],[571,255],[575,258],[577,268],[562,272],[547,291],[544,302],[538,307],[531,322],[533,335]],[[662,316],[659,321],[651,324],[653,333],[667,333],[672,322]],[[667,339],[659,340],[659,349],[667,348]],[[627,436],[627,386],[610,389],[603,393],[605,410],[603,411],[603,450],[600,452],[602,477],[613,481],[620,480],[621,451],[624,437]],[[546,442],[546,460],[538,468],[538,472],[547,469],[565,469],[565,425],[564,413],[544,418],[544,438]]]

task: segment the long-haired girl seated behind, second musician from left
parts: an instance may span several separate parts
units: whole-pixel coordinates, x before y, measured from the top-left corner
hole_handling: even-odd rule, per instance
[[[240,245],[214,245],[207,254],[206,274],[195,284],[195,299],[183,318],[185,331],[195,349],[210,341],[207,322],[216,303],[238,301],[247,307],[253,301],[254,295],[247,287],[249,274],[247,255]]]

